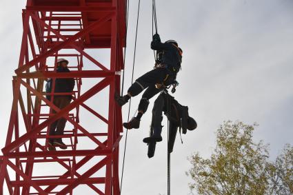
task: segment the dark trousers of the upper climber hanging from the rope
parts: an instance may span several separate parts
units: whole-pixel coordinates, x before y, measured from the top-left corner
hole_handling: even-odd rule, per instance
[[[146,88],[139,103],[139,111],[145,113],[148,110],[149,99],[161,92],[161,89],[155,87],[156,83],[163,82],[166,84],[170,82],[168,70],[166,68],[156,68],[143,74],[143,76],[139,77],[139,79],[130,86],[128,93],[130,93],[131,96],[137,96]]]

